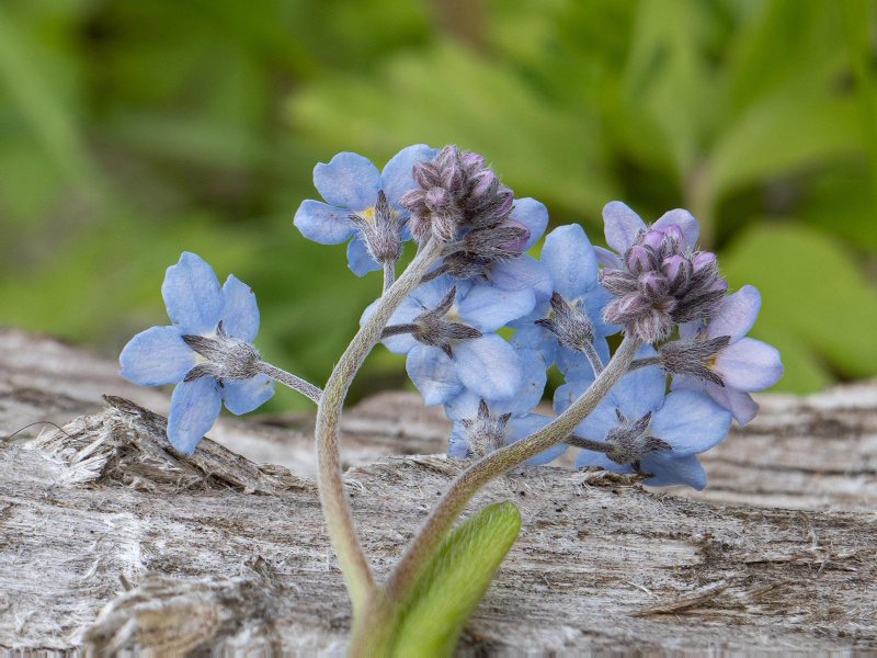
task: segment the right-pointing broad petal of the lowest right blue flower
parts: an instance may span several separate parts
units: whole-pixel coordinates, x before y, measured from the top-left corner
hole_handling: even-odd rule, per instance
[[[708,396],[676,390],[654,413],[649,433],[673,446],[673,454],[687,456],[706,452],[728,435],[731,415]]]

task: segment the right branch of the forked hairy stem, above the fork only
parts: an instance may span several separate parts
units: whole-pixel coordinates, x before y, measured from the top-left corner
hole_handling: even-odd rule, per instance
[[[421,568],[428,563],[442,537],[464,511],[472,496],[498,475],[570,436],[576,426],[596,408],[613,386],[627,373],[640,344],[636,338],[625,336],[608,365],[569,409],[526,439],[506,445],[479,460],[452,483],[451,488],[433,509],[414,540],[408,545],[387,580],[384,589],[387,594],[386,600],[390,604],[403,600],[408,594],[415,583]]]

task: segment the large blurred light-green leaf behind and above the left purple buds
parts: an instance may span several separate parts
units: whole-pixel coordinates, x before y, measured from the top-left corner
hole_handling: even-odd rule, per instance
[[[483,154],[522,196],[599,212],[613,195],[593,116],[544,103],[513,71],[453,42],[399,55],[375,80],[327,78],[289,107],[328,156],[459,144]]]

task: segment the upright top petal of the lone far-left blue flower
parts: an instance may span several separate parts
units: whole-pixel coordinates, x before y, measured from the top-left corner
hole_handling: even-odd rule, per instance
[[[223,310],[223,293],[216,273],[200,256],[184,251],[180,262],[168,268],[161,296],[171,322],[184,334],[216,330]]]

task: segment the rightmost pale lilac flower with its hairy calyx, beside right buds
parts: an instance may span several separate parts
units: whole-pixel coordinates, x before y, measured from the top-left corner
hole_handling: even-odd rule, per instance
[[[783,376],[779,351],[745,337],[760,308],[758,288],[744,285],[725,297],[706,325],[681,325],[682,340],[661,348],[661,366],[674,375],[673,389],[706,392],[740,424],[752,420],[759,405],[750,392],[764,390]]]

